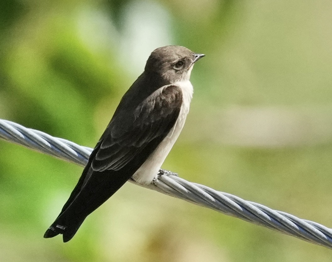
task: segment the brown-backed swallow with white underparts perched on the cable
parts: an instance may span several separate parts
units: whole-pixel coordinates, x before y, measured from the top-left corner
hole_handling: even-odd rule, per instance
[[[177,140],[193,96],[190,75],[204,54],[167,45],[153,50],[122,97],[77,185],[44,238],[75,235],[84,219],[132,179],[149,184]]]

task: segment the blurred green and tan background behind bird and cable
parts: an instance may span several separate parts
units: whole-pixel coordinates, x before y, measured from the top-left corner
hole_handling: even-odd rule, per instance
[[[332,227],[331,1],[0,3],[0,118],[93,147],[149,53],[207,56],[163,168]],[[43,239],[82,168],[0,140],[1,261],[331,261],[296,238],[127,183]]]

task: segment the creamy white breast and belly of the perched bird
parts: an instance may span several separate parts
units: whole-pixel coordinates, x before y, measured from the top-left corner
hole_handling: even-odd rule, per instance
[[[150,183],[158,174],[162,163],[165,161],[169,151],[171,151],[176,139],[179,137],[189,113],[189,106],[194,92],[192,84],[189,80],[174,84],[178,85],[182,91],[182,105],[179,117],[174,127],[169,131],[164,140],[133,174],[132,178],[140,184]]]

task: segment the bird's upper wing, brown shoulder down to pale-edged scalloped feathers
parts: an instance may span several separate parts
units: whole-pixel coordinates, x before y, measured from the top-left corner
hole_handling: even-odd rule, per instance
[[[176,123],[181,105],[182,91],[177,85],[167,85],[153,92],[134,112],[126,115],[126,119],[109,125],[92,160],[92,169],[99,172],[121,170],[150,142],[165,138]]]

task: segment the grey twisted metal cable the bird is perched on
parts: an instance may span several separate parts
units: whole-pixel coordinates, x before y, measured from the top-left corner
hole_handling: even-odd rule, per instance
[[[81,166],[87,164],[89,155],[93,150],[66,139],[53,137],[44,132],[28,129],[17,123],[1,119],[0,138]],[[133,180],[129,181],[225,215],[332,249],[332,229],[317,222],[300,219],[204,185],[191,183],[175,175],[159,174],[149,185],[140,185]]]

